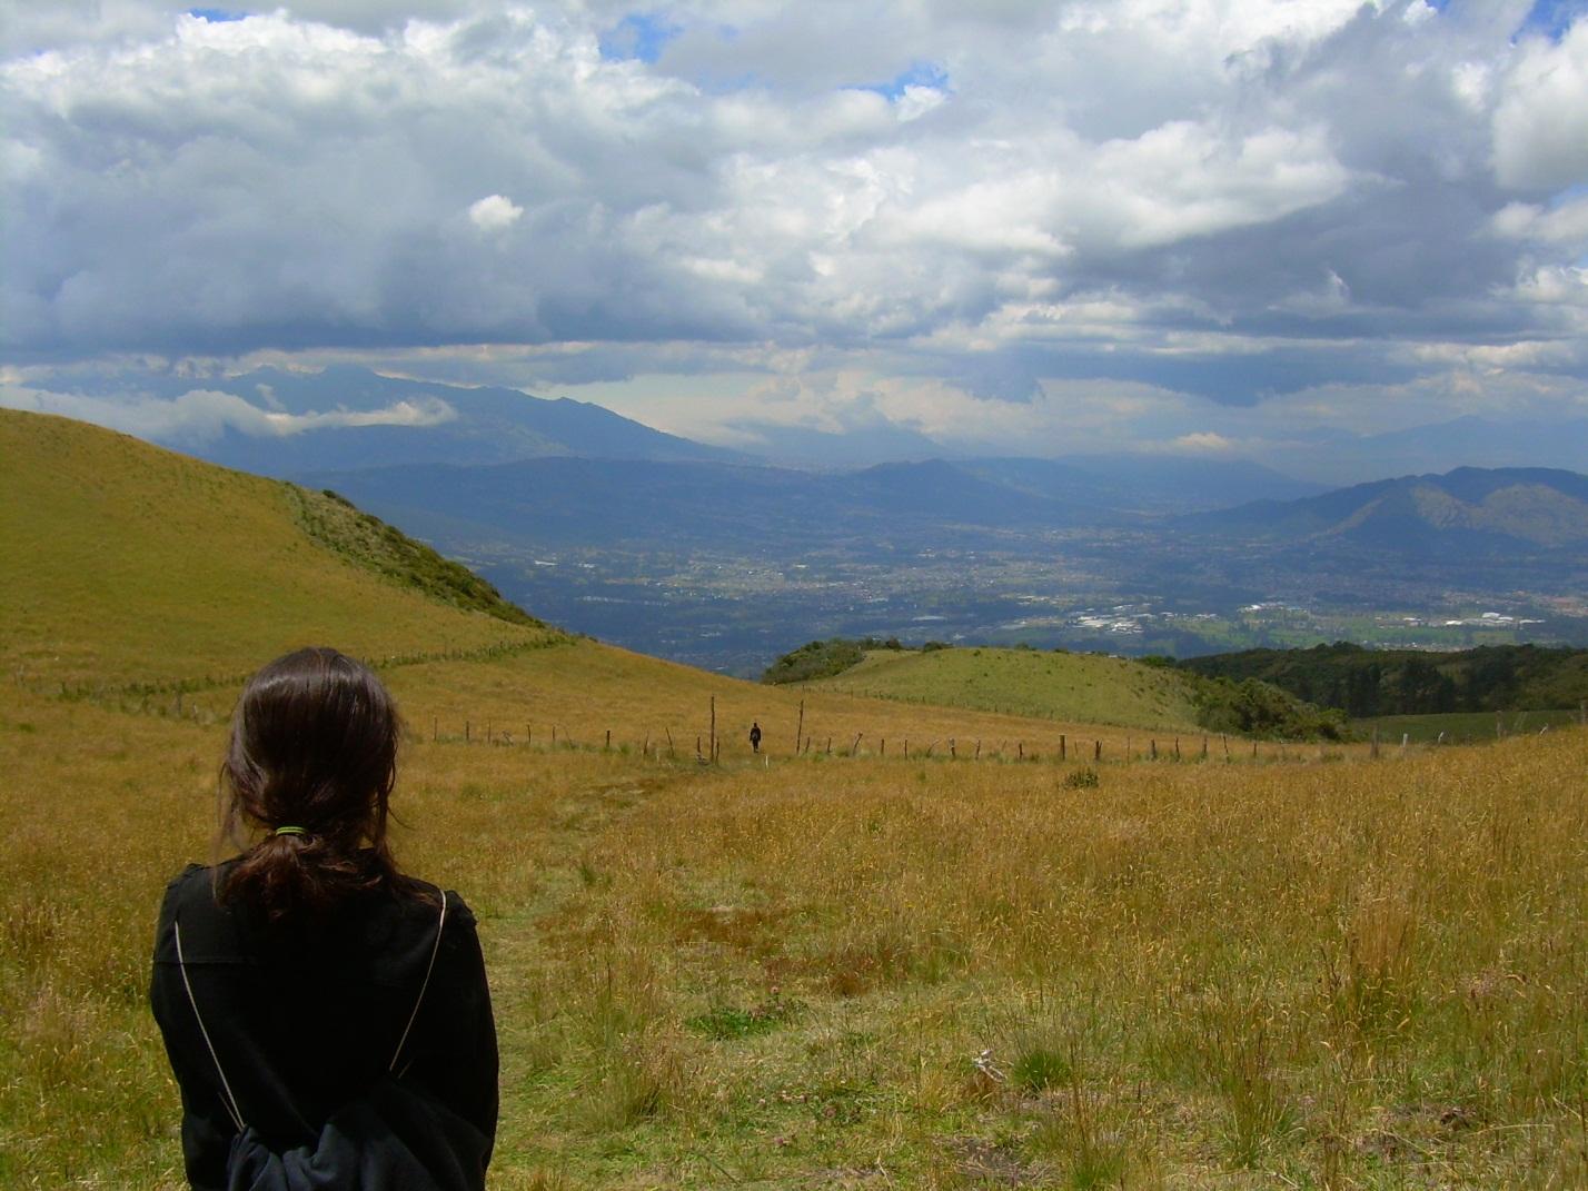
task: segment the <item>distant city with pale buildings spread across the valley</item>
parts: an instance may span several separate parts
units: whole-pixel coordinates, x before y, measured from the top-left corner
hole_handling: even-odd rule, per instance
[[[1188,597],[1170,594],[1169,551],[1159,557],[1162,588],[1145,586],[1151,567],[1137,561],[1129,580],[1105,581],[1097,572],[1107,565],[1108,545],[1093,545],[1091,572],[978,551],[929,551],[900,565],[596,549],[556,551],[524,565],[507,546],[465,548],[462,557],[510,599],[557,624],[743,676],[761,673],[800,642],[824,637],[1180,657],[1336,640],[1418,649],[1588,645],[1588,603],[1572,596],[1443,592],[1437,573],[1420,581],[1388,573],[1386,564],[1386,573],[1361,576],[1356,600],[1242,602],[1253,591],[1245,583],[1224,592],[1204,583]],[[1134,559],[1132,549],[1145,549],[1142,538],[1115,546]]]

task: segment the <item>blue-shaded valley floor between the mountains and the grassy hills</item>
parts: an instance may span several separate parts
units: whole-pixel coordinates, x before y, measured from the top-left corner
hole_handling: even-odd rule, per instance
[[[775,535],[772,535],[775,537]],[[1517,559],[1482,575],[1380,557],[1320,565],[1304,546],[1185,542],[1137,530],[923,530],[877,546],[791,553],[545,548],[440,538],[515,602],[576,632],[688,665],[756,676],[826,637],[1031,645],[1189,657],[1258,646],[1456,649],[1588,643],[1588,567]],[[1312,564],[1312,565],[1309,565]]]

